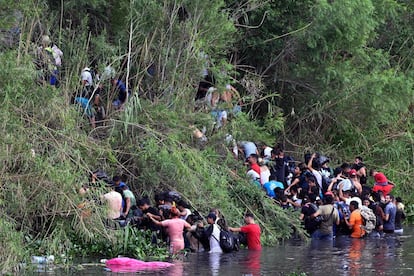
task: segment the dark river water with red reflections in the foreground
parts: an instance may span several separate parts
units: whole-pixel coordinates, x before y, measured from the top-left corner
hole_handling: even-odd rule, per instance
[[[103,266],[49,270],[48,275],[414,275],[414,228],[404,235],[335,241],[287,241],[261,252],[241,250],[230,254],[189,254],[161,271],[112,273]],[[89,260],[90,261],[90,260]],[[99,260],[95,260],[99,262]],[[296,273],[296,274],[294,274]],[[43,274],[43,273],[40,273]]]

